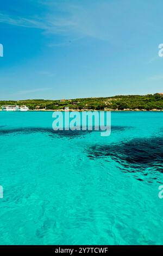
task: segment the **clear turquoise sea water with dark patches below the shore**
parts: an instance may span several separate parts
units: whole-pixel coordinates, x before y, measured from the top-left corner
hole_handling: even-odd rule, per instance
[[[1,245],[163,243],[163,113],[113,112],[111,136],[0,112]]]

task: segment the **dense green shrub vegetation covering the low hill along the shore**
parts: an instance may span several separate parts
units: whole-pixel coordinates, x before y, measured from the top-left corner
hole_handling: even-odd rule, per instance
[[[163,95],[118,95],[72,100],[19,100],[0,101],[2,105],[26,105],[29,109],[163,109]]]

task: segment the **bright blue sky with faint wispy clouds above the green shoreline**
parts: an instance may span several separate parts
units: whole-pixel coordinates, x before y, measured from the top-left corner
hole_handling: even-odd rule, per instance
[[[162,0],[0,0],[0,99],[163,92]]]

